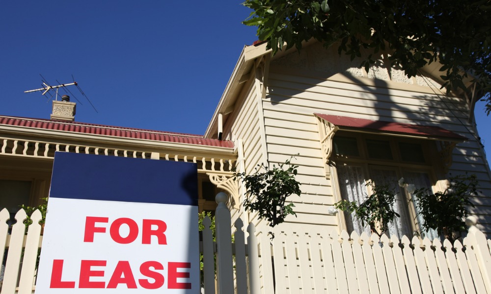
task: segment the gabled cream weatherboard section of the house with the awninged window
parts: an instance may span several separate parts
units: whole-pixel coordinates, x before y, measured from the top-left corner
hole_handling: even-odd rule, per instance
[[[368,73],[359,64],[316,42],[274,57],[266,44],[246,47],[205,137],[233,141],[247,173],[298,154],[292,162],[299,166],[302,195],[291,196],[297,217],[283,224],[294,231],[356,228],[350,216],[329,208],[363,196],[365,181],[394,187],[404,177],[419,188],[443,191],[450,174],[468,172],[476,174],[481,191],[471,199],[471,213],[489,234],[491,178],[476,139],[476,98],[445,95],[435,64],[411,78],[387,68],[383,56]],[[391,233],[412,236],[418,229],[415,209],[406,203],[407,191],[400,196],[402,217]],[[254,214],[232,214],[265,231]]]

